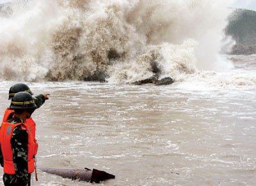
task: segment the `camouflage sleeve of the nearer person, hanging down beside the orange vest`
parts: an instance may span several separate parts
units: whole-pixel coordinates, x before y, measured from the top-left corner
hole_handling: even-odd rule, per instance
[[[20,125],[13,129],[11,138],[15,176],[19,182],[28,182],[28,132]]]

